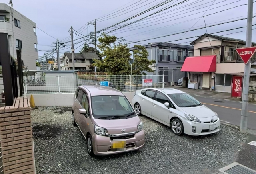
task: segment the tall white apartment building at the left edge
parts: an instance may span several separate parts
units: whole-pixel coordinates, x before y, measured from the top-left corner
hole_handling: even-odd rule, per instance
[[[36,59],[38,59],[36,23],[8,4],[0,3],[0,33],[8,33],[12,57],[17,59],[16,50],[21,49],[24,66],[28,70],[36,70]]]

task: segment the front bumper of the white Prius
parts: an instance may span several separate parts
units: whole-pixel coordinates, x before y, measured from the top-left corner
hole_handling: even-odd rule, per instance
[[[220,118],[214,123],[196,123],[193,121],[190,121],[188,119],[182,120],[183,126],[184,126],[184,133],[188,135],[208,135],[212,133],[216,133],[220,131]],[[196,131],[192,131],[192,126],[196,128]],[[209,130],[211,127],[214,127],[214,130]]]

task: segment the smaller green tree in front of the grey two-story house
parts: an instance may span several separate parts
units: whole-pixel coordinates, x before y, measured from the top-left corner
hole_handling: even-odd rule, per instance
[[[133,51],[134,62],[132,63],[132,74],[133,75],[146,75],[145,72],[154,72],[149,65],[156,63],[155,60],[148,60],[148,51],[141,45],[134,45],[136,50]]]

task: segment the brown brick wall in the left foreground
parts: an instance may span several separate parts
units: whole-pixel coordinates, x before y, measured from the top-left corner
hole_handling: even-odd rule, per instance
[[[0,108],[0,139],[4,174],[35,174],[30,104],[16,98]]]

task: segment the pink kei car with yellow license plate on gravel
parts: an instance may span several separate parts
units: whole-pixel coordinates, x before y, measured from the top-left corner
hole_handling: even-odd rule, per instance
[[[136,151],[144,146],[143,123],[126,96],[105,86],[78,86],[72,124],[87,141],[88,154]]]

